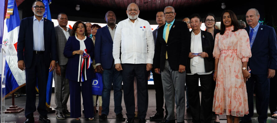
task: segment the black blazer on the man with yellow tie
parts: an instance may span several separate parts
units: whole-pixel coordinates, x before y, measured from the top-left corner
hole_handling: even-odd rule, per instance
[[[164,69],[166,61],[166,51],[169,66],[172,70],[179,70],[179,65],[187,65],[187,59],[190,52],[190,31],[187,24],[183,21],[175,20],[169,31],[168,40],[163,37],[165,25],[158,29],[157,41],[154,54],[154,68]]]

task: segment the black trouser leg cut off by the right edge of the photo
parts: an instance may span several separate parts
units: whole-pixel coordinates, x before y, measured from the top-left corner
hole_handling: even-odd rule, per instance
[[[270,87],[269,87],[269,110],[271,115],[277,114],[277,95],[276,95],[276,89],[277,89],[277,75],[275,75],[273,78],[270,78]]]

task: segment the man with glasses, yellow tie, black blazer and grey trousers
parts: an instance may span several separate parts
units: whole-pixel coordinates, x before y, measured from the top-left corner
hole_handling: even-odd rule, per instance
[[[185,22],[175,20],[176,13],[173,7],[165,7],[164,15],[166,24],[158,29],[154,54],[155,73],[162,75],[168,111],[167,120],[163,123],[175,123],[175,100],[177,122],[184,123],[185,65],[190,52],[190,31]]]

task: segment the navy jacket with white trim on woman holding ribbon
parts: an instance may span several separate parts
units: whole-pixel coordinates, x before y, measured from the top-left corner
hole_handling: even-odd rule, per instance
[[[84,43],[86,45],[87,53],[90,55],[91,59],[94,58],[94,46],[91,38],[88,38],[84,40]],[[80,55],[75,54],[72,55],[73,51],[80,50],[80,42],[75,38],[75,36],[70,36],[65,44],[64,50],[63,50],[63,55],[68,58],[67,62],[67,68],[65,71],[65,78],[68,78],[69,80],[72,81],[78,81],[80,78],[80,73],[79,71],[79,66],[82,64],[80,60]],[[87,63],[87,60],[85,63]],[[93,72],[93,67],[91,66],[89,69],[87,69],[87,66],[83,66],[83,75],[87,76],[87,80],[92,79],[95,77],[95,74]],[[85,72],[85,71],[86,72]]]

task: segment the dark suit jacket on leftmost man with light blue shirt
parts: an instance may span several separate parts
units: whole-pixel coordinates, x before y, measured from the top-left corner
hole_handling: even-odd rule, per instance
[[[24,60],[26,68],[31,67],[33,58],[33,17],[26,17],[21,20],[17,40],[17,58],[18,61]],[[52,21],[44,18],[43,25],[44,62],[45,66],[49,67],[52,60],[57,61],[56,36]]]

